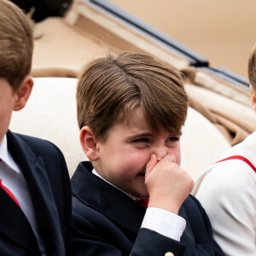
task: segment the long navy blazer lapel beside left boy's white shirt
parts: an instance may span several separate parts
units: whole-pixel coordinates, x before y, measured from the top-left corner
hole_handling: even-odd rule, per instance
[[[26,179],[38,224],[40,236],[47,254],[64,255],[61,224],[49,179],[44,169],[44,160],[35,155],[18,135],[8,132],[8,147],[15,161],[20,165]],[[62,243],[62,246],[60,247]],[[58,246],[56,246],[58,245]],[[61,250],[61,251],[58,251]]]

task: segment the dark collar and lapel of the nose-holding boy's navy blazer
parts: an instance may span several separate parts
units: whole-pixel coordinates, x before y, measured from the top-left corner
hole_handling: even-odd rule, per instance
[[[100,177],[96,177],[91,170],[90,162],[79,164],[71,180],[73,194],[114,223],[137,234],[146,209],[119,189],[115,189]],[[119,213],[116,212],[117,206]]]

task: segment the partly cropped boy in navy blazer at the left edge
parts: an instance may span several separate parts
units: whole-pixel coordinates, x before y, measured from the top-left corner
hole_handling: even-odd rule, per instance
[[[9,131],[32,92],[30,21],[0,0],[0,255],[71,255],[71,188],[52,143]]]

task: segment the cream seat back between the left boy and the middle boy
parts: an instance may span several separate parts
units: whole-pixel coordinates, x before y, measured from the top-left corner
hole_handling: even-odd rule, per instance
[[[75,91],[77,79],[34,79],[26,107],[14,112],[10,130],[55,143],[61,148],[70,175],[86,159],[79,143]]]

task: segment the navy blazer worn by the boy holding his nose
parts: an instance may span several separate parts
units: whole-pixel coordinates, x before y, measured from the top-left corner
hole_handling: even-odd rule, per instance
[[[194,196],[179,215],[186,222],[181,241],[141,229],[145,208],[91,173],[90,162],[73,174],[73,240],[75,255],[224,255],[212,239],[207,214]]]

